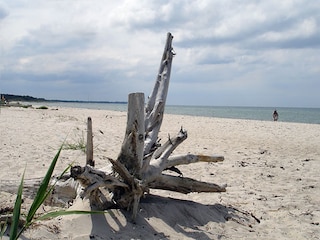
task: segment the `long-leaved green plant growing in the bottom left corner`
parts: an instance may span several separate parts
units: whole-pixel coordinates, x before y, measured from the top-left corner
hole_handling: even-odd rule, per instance
[[[63,215],[70,215],[70,214],[96,214],[96,213],[105,213],[104,211],[67,211],[67,210],[59,210],[59,211],[53,211],[49,213],[42,214],[40,216],[36,216],[36,212],[39,209],[39,207],[43,204],[45,199],[49,196],[51,191],[53,190],[56,182],[50,186],[50,180],[52,177],[53,170],[55,168],[55,165],[57,163],[57,160],[59,158],[59,155],[61,153],[61,150],[63,148],[63,145],[60,147],[59,151],[55,155],[54,159],[51,162],[51,165],[49,166],[49,169],[47,170],[47,173],[42,180],[40,187],[36,193],[36,196],[31,204],[31,207],[29,209],[28,214],[26,215],[26,218],[24,219],[24,224],[23,226],[19,229],[19,223],[21,219],[21,205],[22,205],[22,189],[23,189],[23,181],[24,181],[24,173],[21,178],[21,182],[18,188],[17,192],[17,197],[14,205],[14,210],[13,210],[13,216],[12,216],[12,223],[10,226],[10,240],[16,240],[19,238],[19,236],[22,234],[23,231],[25,231],[27,228],[29,228],[34,222],[36,221],[42,221],[58,216],[63,216]],[[60,175],[64,175],[70,168],[71,166],[68,166],[63,173]],[[59,178],[58,178],[59,179]],[[5,229],[7,227],[7,224],[1,229],[1,235],[0,237],[3,236]]]

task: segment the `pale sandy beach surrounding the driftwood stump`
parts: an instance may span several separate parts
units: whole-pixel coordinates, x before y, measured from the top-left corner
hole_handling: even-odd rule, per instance
[[[96,167],[116,158],[126,112],[59,108],[1,108],[0,183],[44,176],[66,139],[86,140],[93,120]],[[319,239],[320,125],[165,115],[161,137],[183,126],[188,139],[175,153],[218,154],[222,163],[179,166],[184,176],[217,184],[225,193],[152,190],[140,204],[137,223],[129,214],[65,216],[41,222],[29,239]],[[63,150],[56,167],[84,165],[80,150]],[[0,200],[9,196],[0,187]],[[72,209],[89,209],[77,201]],[[260,222],[260,223],[259,223]]]

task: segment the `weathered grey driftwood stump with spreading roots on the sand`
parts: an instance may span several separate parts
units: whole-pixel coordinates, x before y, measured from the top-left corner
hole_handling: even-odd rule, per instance
[[[169,138],[163,145],[158,134],[163,120],[164,108],[169,88],[172,59],[173,36],[167,34],[163,56],[155,86],[145,104],[143,93],[131,93],[128,99],[127,126],[121,151],[116,160],[110,159],[113,173],[94,169],[92,150],[92,125],[88,119],[87,161],[84,167],[71,168],[71,176],[78,180],[84,190],[81,197],[88,197],[92,204],[100,208],[116,205],[131,210],[135,220],[140,198],[150,188],[190,192],[224,192],[226,186],[200,182],[182,177],[176,166],[195,162],[220,162],[223,156],[178,155],[172,152],[187,138],[187,131],[181,128],[177,136]],[[90,123],[89,123],[90,122]],[[88,156],[89,154],[89,156]],[[172,176],[164,173],[171,169],[180,174]],[[111,193],[111,199],[102,190]]]

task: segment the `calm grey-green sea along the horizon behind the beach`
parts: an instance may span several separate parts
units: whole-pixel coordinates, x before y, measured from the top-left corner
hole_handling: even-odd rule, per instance
[[[126,103],[44,102],[43,105],[127,112]],[[165,114],[273,121],[272,114],[274,110],[277,110],[279,114],[278,121],[280,122],[320,124],[320,108],[167,105]]]

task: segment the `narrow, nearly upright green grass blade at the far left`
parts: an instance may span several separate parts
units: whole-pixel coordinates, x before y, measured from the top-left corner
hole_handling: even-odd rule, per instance
[[[21,182],[20,182],[20,185],[18,188],[16,202],[14,204],[12,223],[11,223],[11,227],[10,227],[10,240],[18,238],[17,234],[18,234],[21,205],[22,205],[22,190],[23,190],[24,173],[25,173],[25,170],[24,170],[22,177],[21,177]]]

